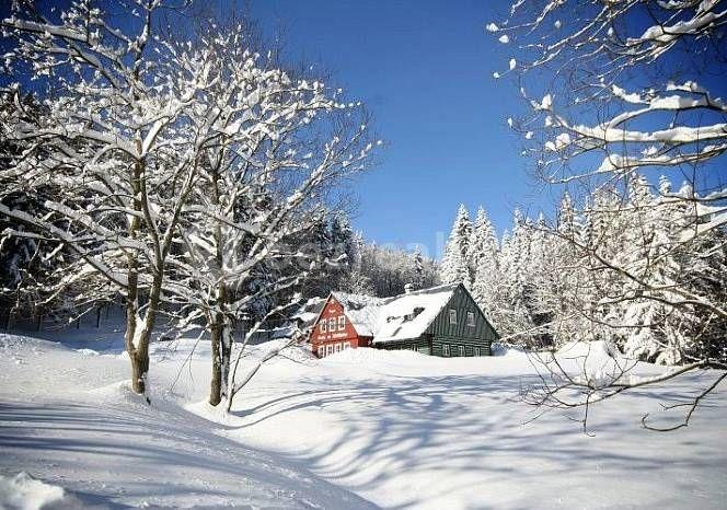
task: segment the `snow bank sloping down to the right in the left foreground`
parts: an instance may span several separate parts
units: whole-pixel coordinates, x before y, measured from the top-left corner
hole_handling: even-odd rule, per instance
[[[128,390],[124,356],[0,336],[0,475],[26,472],[109,507],[371,507],[184,410],[163,393],[175,363],[159,362],[146,405]]]

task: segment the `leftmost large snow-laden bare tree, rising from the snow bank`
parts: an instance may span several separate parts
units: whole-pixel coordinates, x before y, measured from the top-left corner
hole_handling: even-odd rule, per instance
[[[145,393],[172,245],[200,163],[185,113],[208,86],[209,67],[178,69],[173,48],[154,37],[165,3],[131,3],[124,20],[88,1],[50,20],[18,1],[2,21],[16,43],[9,60],[45,76],[54,96],[49,115],[27,123],[18,86],[5,92],[16,108],[3,113],[3,136],[28,149],[2,170],[0,188],[39,194],[50,184],[58,193],[39,213],[4,205],[0,213],[76,253],[57,268],[60,288],[92,278],[124,299],[131,385]]]

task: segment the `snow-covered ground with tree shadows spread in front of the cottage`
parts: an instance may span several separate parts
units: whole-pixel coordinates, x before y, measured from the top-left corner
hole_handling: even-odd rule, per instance
[[[561,412],[527,422],[534,409],[518,394],[533,372],[518,351],[439,359],[358,349],[323,360],[291,351],[265,364],[222,416],[203,403],[204,341],[194,352],[193,340],[155,345],[149,406],[127,390],[120,337],[56,336],[64,345],[0,336],[0,507],[18,507],[12,487],[34,482],[94,508],[695,509],[727,501],[724,393],[686,429],[639,426],[644,413],[663,414],[660,402],[695,392],[706,382],[700,376],[591,409],[590,437]],[[20,473],[35,480],[23,475],[13,485]]]

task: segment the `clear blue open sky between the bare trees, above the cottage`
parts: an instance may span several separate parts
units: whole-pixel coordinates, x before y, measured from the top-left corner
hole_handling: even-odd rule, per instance
[[[252,14],[287,50],[331,70],[372,111],[386,142],[381,164],[359,177],[354,225],[379,244],[422,243],[436,253],[460,202],[482,204],[498,230],[538,194],[506,118],[515,86],[484,31],[496,2],[258,0]],[[500,8],[504,5],[500,5]],[[550,204],[550,198],[545,199]]]

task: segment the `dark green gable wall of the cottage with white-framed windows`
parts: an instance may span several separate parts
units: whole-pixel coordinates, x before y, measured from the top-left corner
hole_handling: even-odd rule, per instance
[[[457,310],[457,324],[449,323],[451,309]],[[468,311],[474,312],[474,326],[466,325]],[[432,356],[442,356],[442,345],[449,344],[451,357],[460,356],[461,345],[465,347],[464,356],[474,356],[475,347],[480,347],[481,356],[491,356],[489,346],[499,338],[485,314],[463,287],[454,290],[449,303],[427,328],[425,335],[431,337]]]

